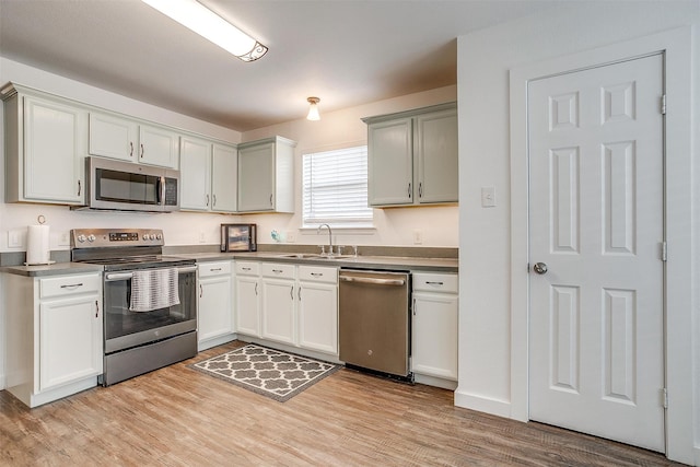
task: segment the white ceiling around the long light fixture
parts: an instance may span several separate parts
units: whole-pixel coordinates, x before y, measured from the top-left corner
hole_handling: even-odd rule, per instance
[[[200,0],[243,62],[139,0],[0,0],[0,55],[237,131],[455,84],[456,37],[557,0]]]

